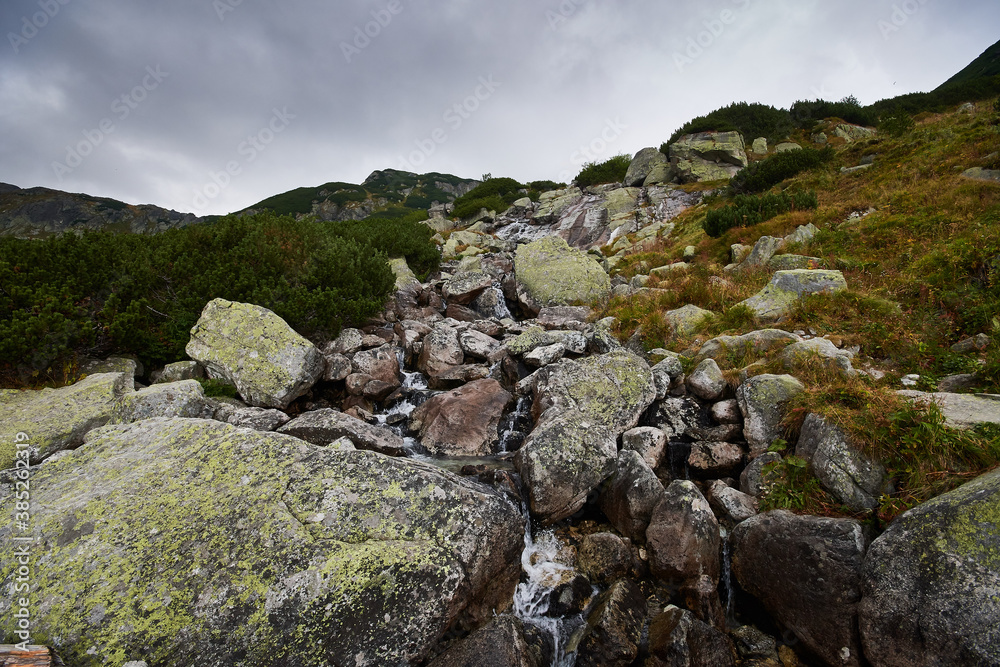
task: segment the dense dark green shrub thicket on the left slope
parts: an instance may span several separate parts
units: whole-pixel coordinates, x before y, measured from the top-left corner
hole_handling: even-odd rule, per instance
[[[269,308],[304,335],[333,335],[378,312],[394,285],[380,247],[391,244],[350,236],[262,213],[151,237],[0,239],[0,372],[58,377],[75,357],[111,353],[146,366],[177,361],[215,298]]]

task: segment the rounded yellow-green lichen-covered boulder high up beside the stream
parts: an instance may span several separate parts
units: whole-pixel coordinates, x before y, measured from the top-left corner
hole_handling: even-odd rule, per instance
[[[518,298],[533,313],[545,306],[603,301],[611,293],[611,279],[601,265],[556,236],[520,246],[514,273]]]

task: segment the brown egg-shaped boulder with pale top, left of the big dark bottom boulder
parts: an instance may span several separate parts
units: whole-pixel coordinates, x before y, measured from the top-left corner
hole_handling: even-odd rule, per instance
[[[684,585],[705,575],[718,584],[721,547],[719,522],[698,487],[687,480],[671,482],[646,529],[653,576]]]

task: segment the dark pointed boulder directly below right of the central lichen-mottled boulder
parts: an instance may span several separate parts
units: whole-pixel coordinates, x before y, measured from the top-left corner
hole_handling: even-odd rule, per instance
[[[618,469],[601,490],[601,511],[619,533],[641,542],[653,509],[663,499],[663,484],[638,452],[618,452]]]

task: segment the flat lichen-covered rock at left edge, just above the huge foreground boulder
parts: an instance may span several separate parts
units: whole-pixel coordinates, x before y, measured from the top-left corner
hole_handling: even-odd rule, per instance
[[[18,433],[28,436],[31,462],[83,444],[111,419],[115,401],[135,390],[130,373],[98,373],[61,389],[0,389],[0,470],[14,466]]]

